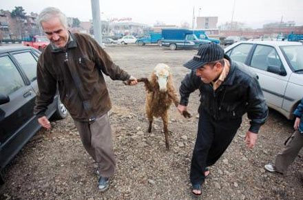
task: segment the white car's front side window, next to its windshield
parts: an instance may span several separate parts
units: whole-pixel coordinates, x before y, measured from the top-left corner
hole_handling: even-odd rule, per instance
[[[278,53],[271,46],[258,45],[253,52],[251,67],[267,71],[269,66],[282,68],[282,62]]]

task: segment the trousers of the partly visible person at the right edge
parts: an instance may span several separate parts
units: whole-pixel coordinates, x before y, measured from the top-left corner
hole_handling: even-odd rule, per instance
[[[289,141],[286,143],[286,147],[275,157],[275,170],[280,173],[285,173],[287,168],[295,161],[295,157],[299,154],[303,147],[303,134],[299,131],[295,131]]]

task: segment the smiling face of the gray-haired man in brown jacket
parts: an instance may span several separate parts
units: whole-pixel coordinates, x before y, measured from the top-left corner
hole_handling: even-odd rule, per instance
[[[54,17],[49,21],[43,21],[41,23],[43,31],[46,37],[56,48],[64,48],[68,41],[67,29],[62,25],[59,17]]]

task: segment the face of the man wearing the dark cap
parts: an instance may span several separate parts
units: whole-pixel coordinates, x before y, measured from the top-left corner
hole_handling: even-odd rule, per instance
[[[200,77],[203,83],[211,83],[220,75],[220,68],[222,68],[220,63],[216,63],[215,66],[205,65],[197,69],[196,75]]]

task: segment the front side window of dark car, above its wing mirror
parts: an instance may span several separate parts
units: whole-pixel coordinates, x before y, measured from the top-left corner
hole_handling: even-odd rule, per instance
[[[21,74],[12,60],[8,57],[0,57],[0,93],[9,95],[25,86]]]

